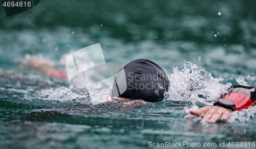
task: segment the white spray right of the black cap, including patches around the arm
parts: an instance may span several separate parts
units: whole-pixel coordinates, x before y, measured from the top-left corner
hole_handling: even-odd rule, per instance
[[[165,94],[165,100],[185,101],[193,105],[184,110],[188,113],[189,109],[197,109],[202,106],[212,106],[212,104],[222,96],[228,93],[231,83],[221,84],[223,78],[213,78],[205,69],[196,64],[186,64],[182,70],[178,67],[173,68],[173,73],[169,74],[170,87]],[[244,78],[236,79],[238,84],[248,86]],[[197,117],[200,120],[202,117]],[[256,118],[256,107],[250,107],[241,111],[234,111],[227,122],[246,122]]]

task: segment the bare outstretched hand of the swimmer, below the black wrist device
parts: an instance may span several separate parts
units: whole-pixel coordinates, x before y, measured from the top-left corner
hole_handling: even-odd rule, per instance
[[[193,118],[203,115],[201,123],[216,122],[217,120],[227,120],[232,115],[232,110],[219,106],[205,106],[196,110],[189,110],[189,115],[184,118]]]

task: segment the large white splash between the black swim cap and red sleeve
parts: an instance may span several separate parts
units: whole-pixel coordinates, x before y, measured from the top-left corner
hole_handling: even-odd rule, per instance
[[[165,94],[165,100],[212,105],[212,102],[227,93],[231,87],[231,83],[221,84],[223,78],[213,78],[211,73],[196,64],[188,62],[188,65],[190,69],[184,64],[182,70],[175,67],[173,73],[169,74],[170,87]]]

